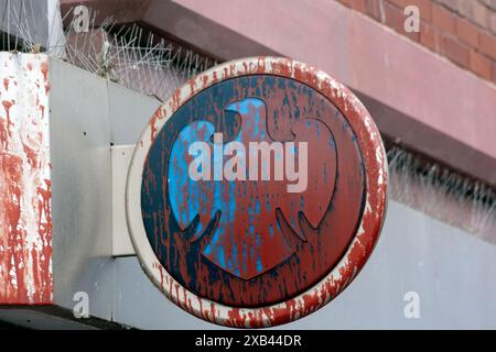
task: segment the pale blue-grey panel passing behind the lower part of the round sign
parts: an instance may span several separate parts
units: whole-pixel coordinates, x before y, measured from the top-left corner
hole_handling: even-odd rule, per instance
[[[136,257],[116,260],[114,318],[145,329],[215,328],[168,301]],[[390,202],[381,238],[357,278],[315,314],[279,329],[496,328],[496,246]],[[420,295],[420,319],[403,315]]]

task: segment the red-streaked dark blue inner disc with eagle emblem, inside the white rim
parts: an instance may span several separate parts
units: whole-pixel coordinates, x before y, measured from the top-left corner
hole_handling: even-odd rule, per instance
[[[305,142],[305,190],[289,193],[293,183],[284,177],[293,156],[294,164],[300,160],[296,144],[295,153],[280,155],[282,166],[276,168],[276,156],[267,165],[270,180],[260,180],[261,167],[258,180],[248,179],[252,169],[244,170],[247,180],[192,180],[188,147],[203,141],[213,150],[209,139],[218,131],[224,148],[234,142],[246,147]],[[143,221],[161,264],[187,289],[238,307],[279,302],[306,290],[355,235],[365,183],[354,139],[324,96],[289,78],[244,76],[198,92],[160,130],[144,165]],[[248,154],[241,158],[254,168]],[[281,180],[274,179],[276,170]]]

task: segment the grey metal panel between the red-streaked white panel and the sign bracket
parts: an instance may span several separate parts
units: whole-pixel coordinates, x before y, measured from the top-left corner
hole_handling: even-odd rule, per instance
[[[54,301],[84,290],[111,318],[111,173],[107,82],[52,59],[51,150]]]

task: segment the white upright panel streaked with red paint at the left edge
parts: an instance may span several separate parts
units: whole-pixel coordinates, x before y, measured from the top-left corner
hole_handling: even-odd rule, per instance
[[[0,305],[53,301],[47,62],[0,53]]]

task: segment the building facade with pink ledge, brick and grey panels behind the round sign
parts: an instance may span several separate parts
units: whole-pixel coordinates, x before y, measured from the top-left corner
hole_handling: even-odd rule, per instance
[[[351,88],[378,125],[389,162],[387,217],[363,272],[323,309],[281,328],[496,327],[496,1],[31,2],[40,9],[0,1],[1,43],[11,52],[2,61],[26,55],[0,78],[22,75],[34,59],[40,70],[19,89],[50,85],[37,88],[50,107],[43,143],[51,166],[43,169],[51,186],[43,189],[51,232],[40,240],[50,253],[40,253],[51,270],[44,280],[23,276],[32,286],[24,285],[25,297],[21,285],[7,288],[13,274],[0,270],[0,320],[218,328],[170,302],[142,272],[126,223],[127,169],[153,112],[186,79],[226,61],[274,55]],[[33,114],[42,119],[40,105]],[[7,110],[0,118],[7,123]],[[13,118],[22,124],[22,113]],[[0,260],[10,267],[14,246],[4,243]],[[42,288],[48,293],[32,295]],[[76,318],[86,301],[89,318]]]

